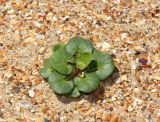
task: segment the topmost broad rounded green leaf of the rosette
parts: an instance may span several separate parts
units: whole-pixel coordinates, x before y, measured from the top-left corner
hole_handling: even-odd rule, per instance
[[[83,39],[78,36],[71,38],[67,43],[66,48],[67,48],[67,52],[69,52],[72,55],[76,54],[77,52],[80,52],[80,53],[93,52],[92,43],[89,40]]]

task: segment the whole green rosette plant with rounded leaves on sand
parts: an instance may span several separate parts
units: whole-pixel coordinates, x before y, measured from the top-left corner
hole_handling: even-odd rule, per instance
[[[53,46],[53,54],[40,69],[56,94],[78,97],[99,88],[100,81],[114,71],[112,57],[94,49],[93,44],[81,37]]]

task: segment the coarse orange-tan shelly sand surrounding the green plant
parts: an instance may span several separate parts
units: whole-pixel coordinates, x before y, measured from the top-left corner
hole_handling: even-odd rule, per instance
[[[79,35],[114,57],[95,93],[57,96],[39,75]],[[0,122],[160,122],[160,0],[0,0]]]

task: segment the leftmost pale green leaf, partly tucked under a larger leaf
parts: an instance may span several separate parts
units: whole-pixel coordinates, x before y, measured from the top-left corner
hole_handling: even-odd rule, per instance
[[[48,58],[44,61],[43,68],[40,69],[40,75],[44,79],[47,79],[53,70],[54,69],[52,68],[52,65],[51,65],[51,58]]]

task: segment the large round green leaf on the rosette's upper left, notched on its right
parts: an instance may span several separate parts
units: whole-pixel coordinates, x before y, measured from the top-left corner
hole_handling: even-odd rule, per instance
[[[58,49],[52,56],[52,67],[63,75],[72,72],[73,66],[69,63],[73,62],[73,56],[66,51],[65,47]]]

